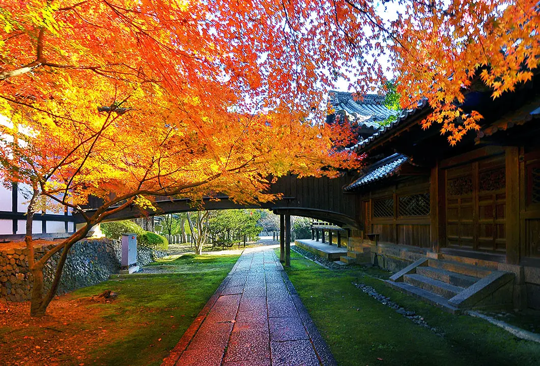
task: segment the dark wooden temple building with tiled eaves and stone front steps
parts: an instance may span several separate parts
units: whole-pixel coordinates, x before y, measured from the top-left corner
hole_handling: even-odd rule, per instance
[[[484,118],[454,147],[421,128],[425,102],[361,135],[367,165],[344,187],[363,224],[349,253],[369,247],[394,287],[450,310],[540,308],[540,75],[461,107]]]

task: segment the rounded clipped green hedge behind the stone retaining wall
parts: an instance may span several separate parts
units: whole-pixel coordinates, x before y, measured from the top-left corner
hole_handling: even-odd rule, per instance
[[[124,233],[135,233],[137,234],[137,245],[155,250],[168,249],[167,238],[150,231],[145,231],[142,227],[129,220],[103,223],[101,224],[101,229],[105,236],[110,239],[120,239]]]

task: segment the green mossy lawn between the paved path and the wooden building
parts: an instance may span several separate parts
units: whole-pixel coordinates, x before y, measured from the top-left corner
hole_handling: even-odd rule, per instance
[[[277,250],[276,250],[277,251]],[[388,272],[360,266],[329,271],[291,252],[289,278],[339,365],[540,365],[540,344],[470,316],[450,315],[389,288]],[[372,286],[444,337],[418,326],[356,288]],[[358,309],[358,310],[357,310]]]

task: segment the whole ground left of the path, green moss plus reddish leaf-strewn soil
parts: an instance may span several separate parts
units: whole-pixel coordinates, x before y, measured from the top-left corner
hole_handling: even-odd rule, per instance
[[[29,316],[29,303],[0,314],[2,365],[159,365],[180,340],[239,255],[184,255],[169,273],[118,275],[51,302]],[[117,293],[107,300],[105,290]]]

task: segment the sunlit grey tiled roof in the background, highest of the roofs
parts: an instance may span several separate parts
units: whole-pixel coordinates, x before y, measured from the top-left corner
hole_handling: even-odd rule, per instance
[[[399,114],[384,106],[384,95],[365,94],[362,100],[354,100],[353,93],[330,91],[330,104],[336,114],[345,113],[351,122],[360,127],[378,130],[381,122],[389,116]]]

